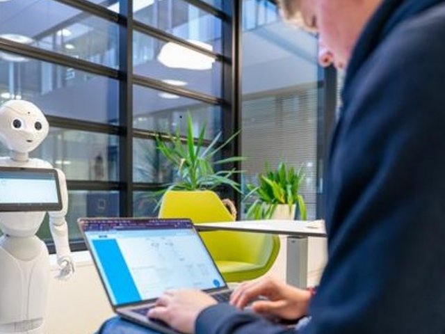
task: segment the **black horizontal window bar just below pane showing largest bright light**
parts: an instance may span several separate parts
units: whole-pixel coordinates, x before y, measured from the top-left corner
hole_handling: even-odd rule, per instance
[[[199,93],[196,92],[195,90],[190,90],[187,88],[172,86],[169,84],[165,84],[165,82],[163,81],[151,79],[148,77],[143,77],[137,74],[133,74],[133,84],[156,90],[162,90],[163,92],[172,93],[183,97],[189,97],[191,99],[199,100],[208,104],[215,104],[215,105],[223,104],[223,100],[218,99],[218,97],[213,97],[211,95]]]

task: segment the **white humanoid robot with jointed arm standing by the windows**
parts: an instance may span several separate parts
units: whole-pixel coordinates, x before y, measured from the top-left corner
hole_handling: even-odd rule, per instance
[[[0,143],[10,150],[10,157],[0,157],[0,166],[52,168],[47,161],[29,158],[29,152],[42,143],[48,131],[47,119],[34,104],[12,100],[0,106]],[[65,221],[68,194],[65,175],[56,171],[62,209],[48,212],[49,225],[60,266],[58,278],[66,279],[74,272]],[[35,233],[44,215],[45,212],[0,211],[0,334],[43,333],[49,255]]]

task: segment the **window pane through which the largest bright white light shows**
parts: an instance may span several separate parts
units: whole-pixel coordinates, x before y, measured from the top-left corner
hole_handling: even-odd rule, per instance
[[[133,31],[133,72],[200,93],[221,95],[221,64],[200,52]],[[173,81],[173,82],[175,82]]]

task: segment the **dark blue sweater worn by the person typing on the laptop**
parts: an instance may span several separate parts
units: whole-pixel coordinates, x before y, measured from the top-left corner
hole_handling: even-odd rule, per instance
[[[329,261],[301,333],[445,333],[445,0],[386,0],[367,24],[325,184]],[[295,333],[228,305],[196,330]]]

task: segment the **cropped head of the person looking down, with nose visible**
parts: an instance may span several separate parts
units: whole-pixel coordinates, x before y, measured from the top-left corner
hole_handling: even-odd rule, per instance
[[[383,0],[279,0],[284,19],[318,31],[338,68],[348,65],[364,26]]]

